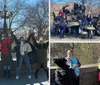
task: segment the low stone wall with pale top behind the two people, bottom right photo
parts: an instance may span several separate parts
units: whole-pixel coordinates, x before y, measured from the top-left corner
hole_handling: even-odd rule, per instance
[[[58,67],[51,67],[50,82],[54,85],[54,71]],[[97,64],[83,65],[80,67],[80,85],[98,85],[97,80],[98,68]]]

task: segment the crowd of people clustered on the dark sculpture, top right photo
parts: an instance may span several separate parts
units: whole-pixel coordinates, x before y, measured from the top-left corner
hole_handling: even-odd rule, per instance
[[[80,5],[77,3],[74,3],[73,9],[69,11],[66,9],[66,6],[63,6],[63,8],[58,12],[58,15],[56,16],[55,13],[53,13],[54,16],[54,25],[56,33],[60,35],[60,38],[64,38],[64,34],[66,32],[71,32],[73,29],[70,30],[67,29],[68,25],[68,16],[71,16],[71,21],[78,21],[79,26],[75,28],[76,35],[79,35],[84,30],[84,25],[93,26],[100,20],[100,16],[92,16],[91,12],[88,12],[87,15],[85,13],[86,7],[84,5]],[[95,21],[96,19],[96,21]]]

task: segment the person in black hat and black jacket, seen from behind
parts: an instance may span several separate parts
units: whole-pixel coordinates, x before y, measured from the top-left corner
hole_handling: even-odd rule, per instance
[[[73,69],[69,69],[69,66],[65,65],[65,60],[57,60],[55,63],[59,68],[55,71],[56,85],[73,85],[73,81],[76,79],[76,75]]]

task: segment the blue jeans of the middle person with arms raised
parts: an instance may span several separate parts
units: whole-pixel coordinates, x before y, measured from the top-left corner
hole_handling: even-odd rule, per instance
[[[19,65],[18,65],[17,73],[16,73],[17,76],[20,75],[20,70],[21,70],[21,66],[22,66],[22,63],[23,63],[23,59],[24,59],[26,65],[27,65],[28,75],[31,75],[31,65],[30,65],[30,60],[29,60],[28,55],[25,54],[25,55],[21,55],[21,56],[20,56]]]

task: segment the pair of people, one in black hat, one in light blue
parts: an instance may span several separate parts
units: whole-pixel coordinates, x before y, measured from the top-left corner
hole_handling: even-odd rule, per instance
[[[54,59],[54,63],[59,67],[55,70],[55,85],[80,85],[81,63],[72,49],[67,51],[66,57]]]

